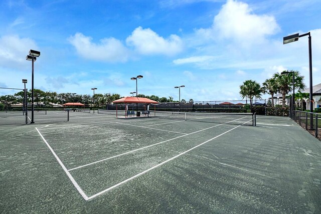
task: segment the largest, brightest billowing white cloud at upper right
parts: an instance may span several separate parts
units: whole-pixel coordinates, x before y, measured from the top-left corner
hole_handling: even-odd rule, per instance
[[[273,16],[256,15],[248,4],[228,0],[215,16],[212,27],[199,29],[197,34],[208,39],[220,37],[247,44],[262,41],[278,30]]]

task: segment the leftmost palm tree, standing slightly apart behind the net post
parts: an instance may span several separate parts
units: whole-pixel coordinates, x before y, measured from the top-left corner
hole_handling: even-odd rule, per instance
[[[256,81],[253,80],[246,80],[243,82],[243,85],[240,86],[240,94],[242,96],[242,99],[244,99],[244,97],[248,97],[250,99],[250,109],[252,112],[252,101],[253,101],[253,97],[257,97],[259,99],[261,98],[261,86],[260,84],[258,84]]]

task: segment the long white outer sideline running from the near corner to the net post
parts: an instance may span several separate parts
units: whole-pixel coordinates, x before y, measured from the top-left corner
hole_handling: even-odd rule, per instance
[[[250,121],[252,121],[252,120],[249,120],[249,121],[247,121],[247,122],[245,122],[245,123],[248,123],[248,122],[250,122]],[[243,123],[243,124],[245,124],[245,123]],[[242,124],[242,125],[243,125],[243,124]],[[123,183],[126,183],[126,182],[128,182],[129,180],[132,180],[132,179],[134,179],[134,178],[136,178],[136,177],[138,177],[138,176],[140,176],[140,175],[142,175],[142,174],[145,174],[146,172],[148,172],[148,171],[150,171],[150,170],[152,170],[152,169],[154,169],[154,168],[157,168],[157,167],[159,167],[159,166],[161,166],[161,165],[163,165],[163,164],[165,164],[165,163],[167,163],[167,162],[169,162],[169,161],[171,161],[171,160],[174,160],[174,159],[178,158],[179,156],[181,156],[181,155],[183,155],[183,154],[185,154],[185,153],[187,153],[187,152],[189,152],[189,151],[191,151],[191,150],[193,150],[193,149],[195,149],[195,148],[197,148],[197,147],[199,147],[199,146],[201,146],[201,145],[203,145],[203,144],[205,144],[205,143],[207,143],[207,142],[209,142],[209,141],[211,141],[211,140],[214,140],[215,138],[218,138],[218,137],[222,136],[223,134],[226,134],[226,133],[228,133],[228,132],[230,132],[230,131],[232,131],[232,130],[240,127],[240,126],[241,126],[241,125],[238,125],[238,126],[232,128],[232,129],[230,129],[230,130],[228,130],[228,131],[226,131],[226,132],[224,132],[224,133],[222,133],[222,134],[220,134],[220,135],[217,135],[216,137],[213,137],[212,139],[209,139],[209,140],[207,140],[207,141],[205,141],[205,142],[203,142],[203,143],[201,143],[201,144],[199,144],[199,145],[197,145],[197,146],[194,146],[193,148],[191,148],[191,149],[189,149],[189,150],[187,150],[187,151],[185,151],[185,152],[182,152],[182,153],[180,153],[180,154],[178,154],[178,155],[176,155],[176,156],[174,156],[174,157],[172,157],[172,158],[170,158],[170,159],[168,159],[168,160],[166,160],[166,161],[164,161],[164,162],[162,162],[162,163],[159,163],[159,164],[157,164],[157,165],[155,165],[155,166],[153,166],[153,167],[150,167],[149,169],[146,169],[145,171],[142,171],[142,172],[140,172],[140,173],[138,173],[138,174],[136,174],[136,175],[134,175],[134,176],[126,179],[126,180],[123,180],[123,181],[121,181],[120,183],[117,183],[117,184],[115,184],[115,185],[113,185],[113,186],[110,186],[109,188],[107,188],[107,189],[105,189],[105,190],[103,190],[103,191],[101,191],[101,192],[98,192],[98,193],[96,193],[96,194],[88,197],[88,200],[89,200],[89,199],[92,199],[92,198],[94,198],[94,197],[97,197],[98,195],[101,195],[101,194],[103,194],[103,193],[105,193],[105,192],[107,192],[107,191],[109,191],[109,190],[111,190],[111,189],[113,189],[113,188],[115,188],[115,187],[123,184]]]

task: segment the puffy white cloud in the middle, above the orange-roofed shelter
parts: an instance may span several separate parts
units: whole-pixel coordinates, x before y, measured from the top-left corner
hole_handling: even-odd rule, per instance
[[[136,28],[127,37],[126,43],[142,55],[173,56],[183,50],[183,42],[179,36],[171,35],[168,39],[164,39],[151,29],[142,29],[142,27]]]

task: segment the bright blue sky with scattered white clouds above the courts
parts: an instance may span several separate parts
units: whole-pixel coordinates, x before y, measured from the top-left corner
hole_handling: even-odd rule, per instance
[[[0,87],[58,93],[138,94],[194,101],[240,100],[245,80],[298,70],[308,80],[311,32],[313,85],[321,83],[321,4],[282,1],[1,1]],[[0,89],[0,95],[17,91]],[[263,96],[264,98],[269,95]]]

